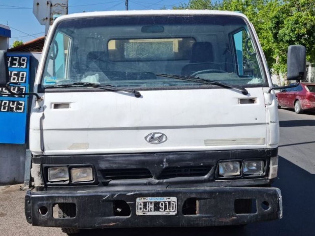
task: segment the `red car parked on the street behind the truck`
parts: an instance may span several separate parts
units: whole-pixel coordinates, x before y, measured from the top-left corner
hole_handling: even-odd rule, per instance
[[[315,83],[301,83],[294,88],[282,89],[276,96],[279,108],[280,106],[294,108],[299,114],[304,110],[315,110]]]

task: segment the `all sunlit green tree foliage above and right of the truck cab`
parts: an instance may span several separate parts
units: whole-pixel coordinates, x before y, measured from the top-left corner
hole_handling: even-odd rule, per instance
[[[190,0],[174,9],[240,11],[255,27],[268,65],[286,72],[289,45],[306,46],[307,60],[315,63],[314,0]]]

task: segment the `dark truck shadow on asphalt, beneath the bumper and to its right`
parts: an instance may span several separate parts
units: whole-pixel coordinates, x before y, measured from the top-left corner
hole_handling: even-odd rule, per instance
[[[272,187],[281,189],[283,218],[271,222],[258,222],[245,227],[204,228],[127,228],[83,230],[80,235],[115,236],[297,236],[315,235],[315,175],[279,157],[278,178]]]

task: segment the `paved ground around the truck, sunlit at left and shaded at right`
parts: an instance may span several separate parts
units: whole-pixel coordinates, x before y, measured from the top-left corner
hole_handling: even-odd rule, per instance
[[[283,219],[238,227],[151,228],[83,231],[81,235],[213,236],[213,235],[315,235],[315,114],[298,115],[280,109],[278,178],[283,196]],[[65,235],[59,228],[32,227],[24,216],[20,185],[0,187],[0,235]]]

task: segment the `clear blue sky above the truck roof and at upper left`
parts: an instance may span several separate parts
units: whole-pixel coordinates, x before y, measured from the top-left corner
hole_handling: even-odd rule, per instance
[[[171,9],[189,0],[129,0],[129,10]],[[77,12],[125,10],[125,0],[69,0],[68,14]],[[0,0],[0,24],[11,29],[9,45],[15,40],[24,43],[41,37],[45,26],[33,15],[33,0]]]

